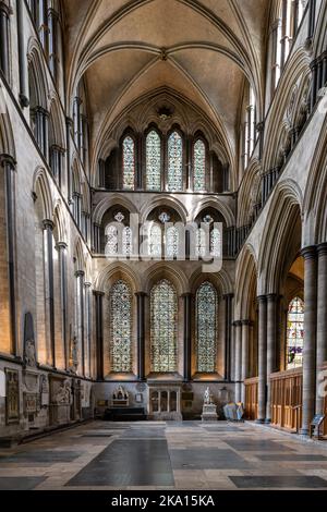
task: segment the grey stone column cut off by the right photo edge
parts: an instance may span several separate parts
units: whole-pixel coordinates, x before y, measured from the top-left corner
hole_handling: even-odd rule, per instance
[[[317,289],[317,373],[327,361],[327,242],[317,246],[318,253],[318,289]],[[318,386],[316,383],[316,414],[323,414],[324,397],[319,397]]]

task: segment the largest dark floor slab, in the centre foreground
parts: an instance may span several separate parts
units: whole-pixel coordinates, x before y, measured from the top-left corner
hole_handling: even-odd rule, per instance
[[[66,486],[173,486],[167,441],[119,439]]]

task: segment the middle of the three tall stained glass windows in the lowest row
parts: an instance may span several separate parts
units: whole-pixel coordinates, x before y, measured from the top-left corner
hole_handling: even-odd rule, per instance
[[[177,293],[164,279],[150,293],[152,371],[177,370]]]

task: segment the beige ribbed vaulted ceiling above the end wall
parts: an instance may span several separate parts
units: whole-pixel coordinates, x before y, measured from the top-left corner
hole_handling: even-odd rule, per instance
[[[263,105],[270,0],[64,1],[69,98],[85,80],[92,137],[169,87],[215,125],[234,163],[245,80]]]

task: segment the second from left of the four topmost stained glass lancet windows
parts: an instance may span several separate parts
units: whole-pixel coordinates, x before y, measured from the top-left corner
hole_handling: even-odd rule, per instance
[[[146,137],[146,188],[161,188],[161,139],[155,130]]]

